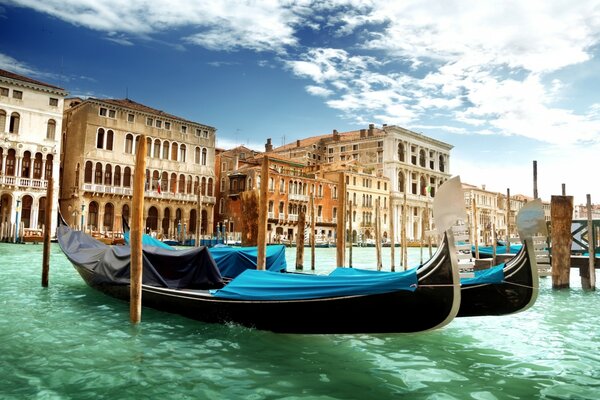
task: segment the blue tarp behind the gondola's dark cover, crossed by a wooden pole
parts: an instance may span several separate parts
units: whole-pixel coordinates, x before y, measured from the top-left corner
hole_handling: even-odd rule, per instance
[[[209,249],[221,275],[235,278],[247,269],[256,269],[257,247],[212,247]],[[266,269],[273,272],[285,272],[285,246],[282,244],[267,246]]]

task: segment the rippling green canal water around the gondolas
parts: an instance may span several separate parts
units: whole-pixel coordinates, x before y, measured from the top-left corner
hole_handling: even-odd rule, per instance
[[[433,332],[281,335],[146,308],[132,326],[128,304],[88,288],[56,244],[42,288],[41,253],[0,244],[0,399],[600,398],[600,293],[577,276],[564,291],[542,278],[526,312]],[[372,266],[375,250],[353,258]],[[335,249],[317,260],[332,268]]]

